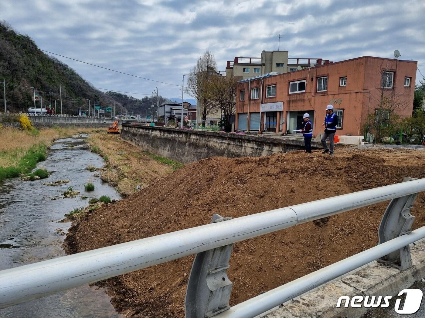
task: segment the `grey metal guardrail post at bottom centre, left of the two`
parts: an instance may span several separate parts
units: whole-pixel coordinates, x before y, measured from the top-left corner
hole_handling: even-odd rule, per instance
[[[231,218],[214,214],[211,223]],[[186,318],[208,318],[230,308],[233,283],[227,277],[227,268],[232,248],[229,244],[196,254],[184,301]]]

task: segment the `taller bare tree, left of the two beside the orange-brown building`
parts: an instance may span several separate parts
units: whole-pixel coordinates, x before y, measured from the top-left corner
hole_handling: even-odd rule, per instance
[[[196,98],[200,103],[201,118],[207,119],[207,115],[215,112],[216,108],[208,93],[208,85],[211,78],[214,77],[217,63],[214,55],[206,50],[204,54],[198,57],[195,66],[190,70],[190,76],[187,80],[187,92]]]

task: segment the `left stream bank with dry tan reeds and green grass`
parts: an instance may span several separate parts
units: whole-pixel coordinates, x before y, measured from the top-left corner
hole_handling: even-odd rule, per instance
[[[90,133],[93,128],[17,129],[0,128],[0,180],[16,178],[30,172],[37,162],[46,159],[54,140],[77,132]]]

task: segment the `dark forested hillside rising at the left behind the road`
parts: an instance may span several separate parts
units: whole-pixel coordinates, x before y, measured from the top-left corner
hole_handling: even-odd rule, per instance
[[[2,39],[3,38],[3,39]],[[12,42],[13,41],[13,42]],[[10,112],[26,112],[28,107],[34,107],[33,87],[36,94],[42,97],[45,108],[52,103],[57,106],[60,114],[59,84],[62,89],[62,112],[77,114],[77,103],[88,109],[88,99],[93,106],[116,105],[116,114],[145,114],[150,108],[150,97],[133,98],[117,92],[101,92],[85,81],[75,70],[48,56],[37,48],[35,42],[27,34],[23,35],[13,30],[11,25],[0,21],[0,92],[3,100],[3,79],[6,82],[6,105]],[[164,99],[160,97],[160,102]],[[154,101],[156,104],[156,100]],[[0,103],[0,111],[4,111]],[[40,102],[37,101],[37,107]],[[108,114],[105,114],[108,115]]]

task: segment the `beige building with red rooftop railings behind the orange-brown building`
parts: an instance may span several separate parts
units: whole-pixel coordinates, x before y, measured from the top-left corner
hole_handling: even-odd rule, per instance
[[[238,77],[240,81],[267,73],[287,73],[308,68],[313,64],[328,64],[329,60],[289,58],[288,51],[263,51],[261,57],[235,57],[227,61],[226,76]]]

